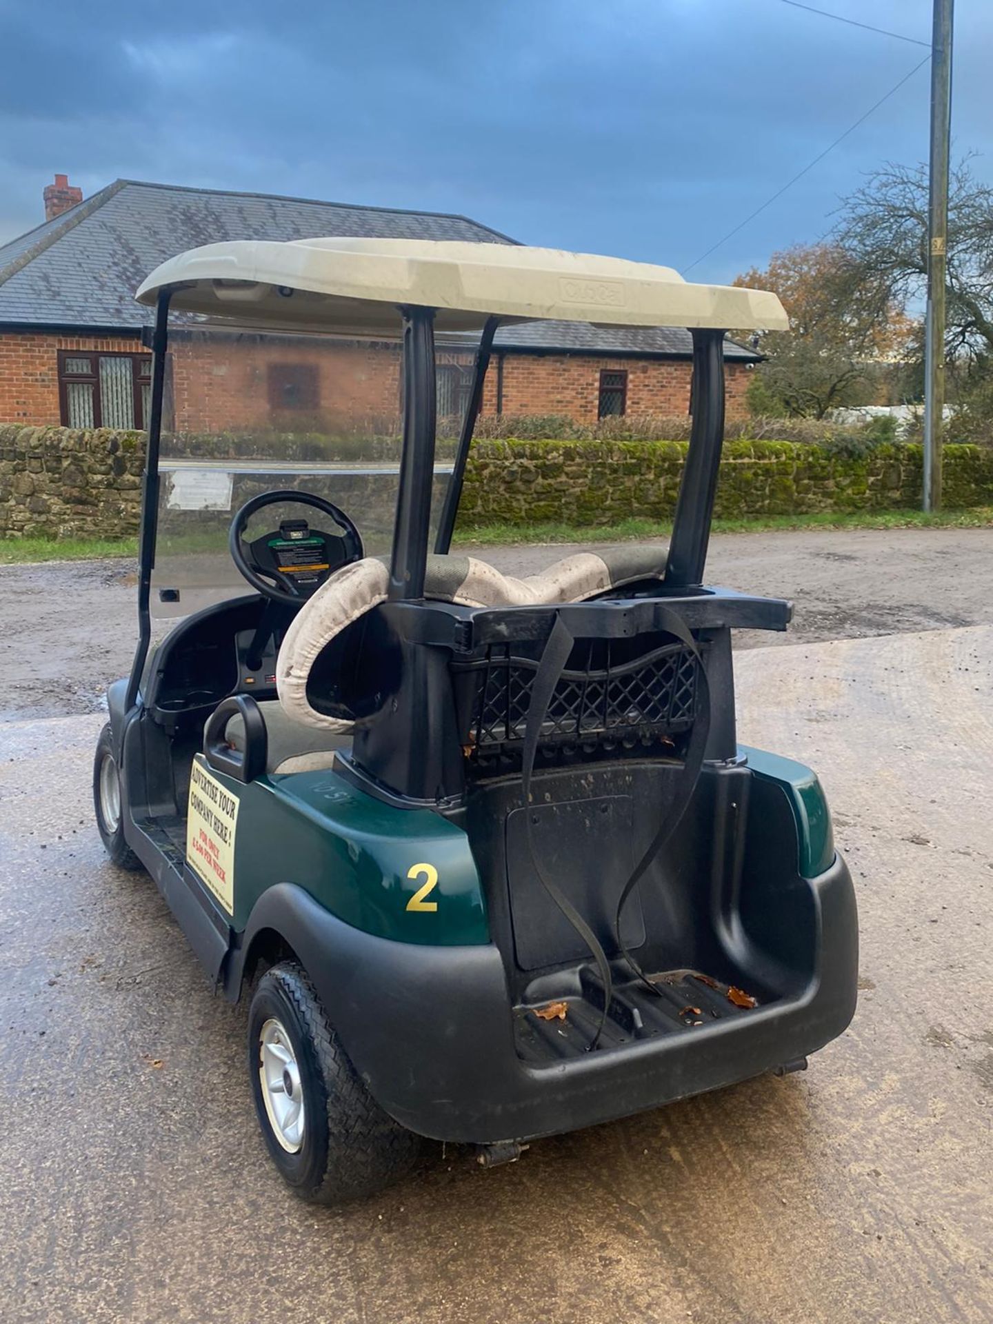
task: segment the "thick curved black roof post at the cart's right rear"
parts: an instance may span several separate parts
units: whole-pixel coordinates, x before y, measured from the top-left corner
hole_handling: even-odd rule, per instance
[[[724,444],[724,332],[692,330],[692,428],[675,503],[666,584],[703,583]]]

